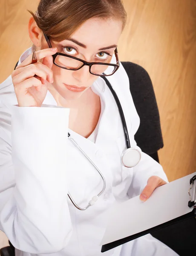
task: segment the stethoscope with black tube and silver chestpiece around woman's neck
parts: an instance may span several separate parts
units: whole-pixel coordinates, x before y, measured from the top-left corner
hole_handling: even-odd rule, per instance
[[[17,62],[18,64],[18,62]],[[14,70],[16,69],[17,67],[17,64],[14,68]],[[126,140],[126,145],[127,145],[127,149],[124,150],[124,152],[122,153],[122,156],[121,156],[121,163],[125,166],[125,167],[128,167],[128,168],[131,168],[131,167],[134,167],[136,166],[139,161],[141,160],[141,152],[137,149],[137,148],[131,148],[130,146],[130,139],[129,139],[129,134],[128,134],[128,131],[127,131],[127,124],[126,124],[126,121],[125,121],[125,118],[124,118],[124,113],[123,113],[123,110],[122,110],[122,107],[121,107],[121,103],[118,99],[118,96],[117,94],[115,93],[115,90],[112,88],[112,85],[110,84],[110,82],[106,79],[105,76],[101,76],[102,79],[104,79],[104,81],[106,82],[107,86],[109,87],[110,91],[112,92],[112,95],[115,99],[115,102],[118,106],[118,110],[119,110],[119,113],[120,113],[120,116],[121,116],[121,122],[122,122],[122,125],[123,125],[123,129],[124,129],[124,137],[125,137],[125,140]],[[75,140],[71,137],[71,135],[69,134],[68,132],[68,138],[69,140],[75,145],[76,148],[79,149],[79,151],[81,151],[81,153],[84,155],[84,157],[86,157],[86,159],[92,164],[92,166],[98,171],[98,173],[100,174],[102,180],[103,180],[103,187],[102,187],[102,190],[101,192],[98,193],[98,195],[95,195],[92,197],[92,199],[89,201],[88,205],[84,208],[81,208],[78,206],[78,204],[75,203],[75,201],[73,200],[72,196],[69,194],[68,192],[68,196],[69,196],[69,199],[72,201],[72,204],[79,210],[81,211],[84,211],[86,209],[88,209],[90,206],[94,205],[95,202],[98,200],[98,198],[100,197],[100,195],[103,194],[105,188],[106,188],[106,180],[103,176],[103,174],[101,173],[101,171],[98,169],[98,167],[92,162],[92,160],[90,160],[90,158],[85,154],[85,152],[79,147],[79,145],[75,142]]]

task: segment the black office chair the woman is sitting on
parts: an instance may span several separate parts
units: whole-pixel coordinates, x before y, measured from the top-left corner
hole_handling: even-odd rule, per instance
[[[150,76],[143,67],[137,64],[121,63],[129,76],[130,92],[140,117],[140,126],[135,134],[135,141],[143,152],[159,162],[158,150],[163,147],[163,138],[159,110]],[[194,255],[196,245],[195,219],[155,231],[152,235],[167,244],[180,256],[187,256],[189,253]],[[182,248],[184,241],[184,248]],[[15,256],[14,247],[10,241],[9,244],[10,246],[0,250],[0,256]]]

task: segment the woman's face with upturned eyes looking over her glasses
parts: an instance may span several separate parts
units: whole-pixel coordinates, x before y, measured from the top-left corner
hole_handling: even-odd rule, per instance
[[[93,18],[87,20],[71,36],[75,42],[70,40],[50,42],[52,47],[57,47],[58,52],[66,53],[88,62],[110,63],[121,32],[121,21]],[[76,41],[78,43],[76,43]],[[43,37],[41,49],[44,48],[48,48],[48,44]],[[100,50],[101,48],[108,49]],[[98,79],[98,76],[89,73],[89,66],[84,66],[80,70],[73,71],[57,67],[53,64],[52,71],[54,82],[49,84],[49,90],[55,99],[58,99],[62,104],[63,102],[79,99],[81,95],[91,87],[93,82]],[[65,84],[85,87],[86,89],[82,92],[73,92],[70,91]]]

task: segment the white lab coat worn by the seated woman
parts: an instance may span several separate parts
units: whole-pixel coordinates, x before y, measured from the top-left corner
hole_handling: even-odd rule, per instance
[[[27,49],[19,64],[31,52]],[[139,117],[127,73],[121,65],[107,79],[121,102],[131,146],[136,147]],[[69,108],[58,107],[49,91],[41,108],[22,108],[17,106],[12,77],[0,84],[0,230],[16,248],[16,256],[177,255],[150,235],[101,253],[104,212],[116,200],[138,195],[150,176],[167,177],[143,152],[137,166],[121,165],[126,143],[117,105],[100,77],[92,90],[101,97],[102,111],[95,143],[68,128]],[[67,139],[68,131],[106,179],[105,192],[86,211],[73,206],[68,191],[84,207],[101,191],[102,180]]]

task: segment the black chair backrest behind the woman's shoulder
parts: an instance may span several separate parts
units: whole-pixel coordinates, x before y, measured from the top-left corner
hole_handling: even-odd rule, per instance
[[[153,84],[147,71],[132,62],[122,61],[130,81],[130,92],[140,117],[135,141],[146,154],[154,154],[163,147],[159,109]]]

